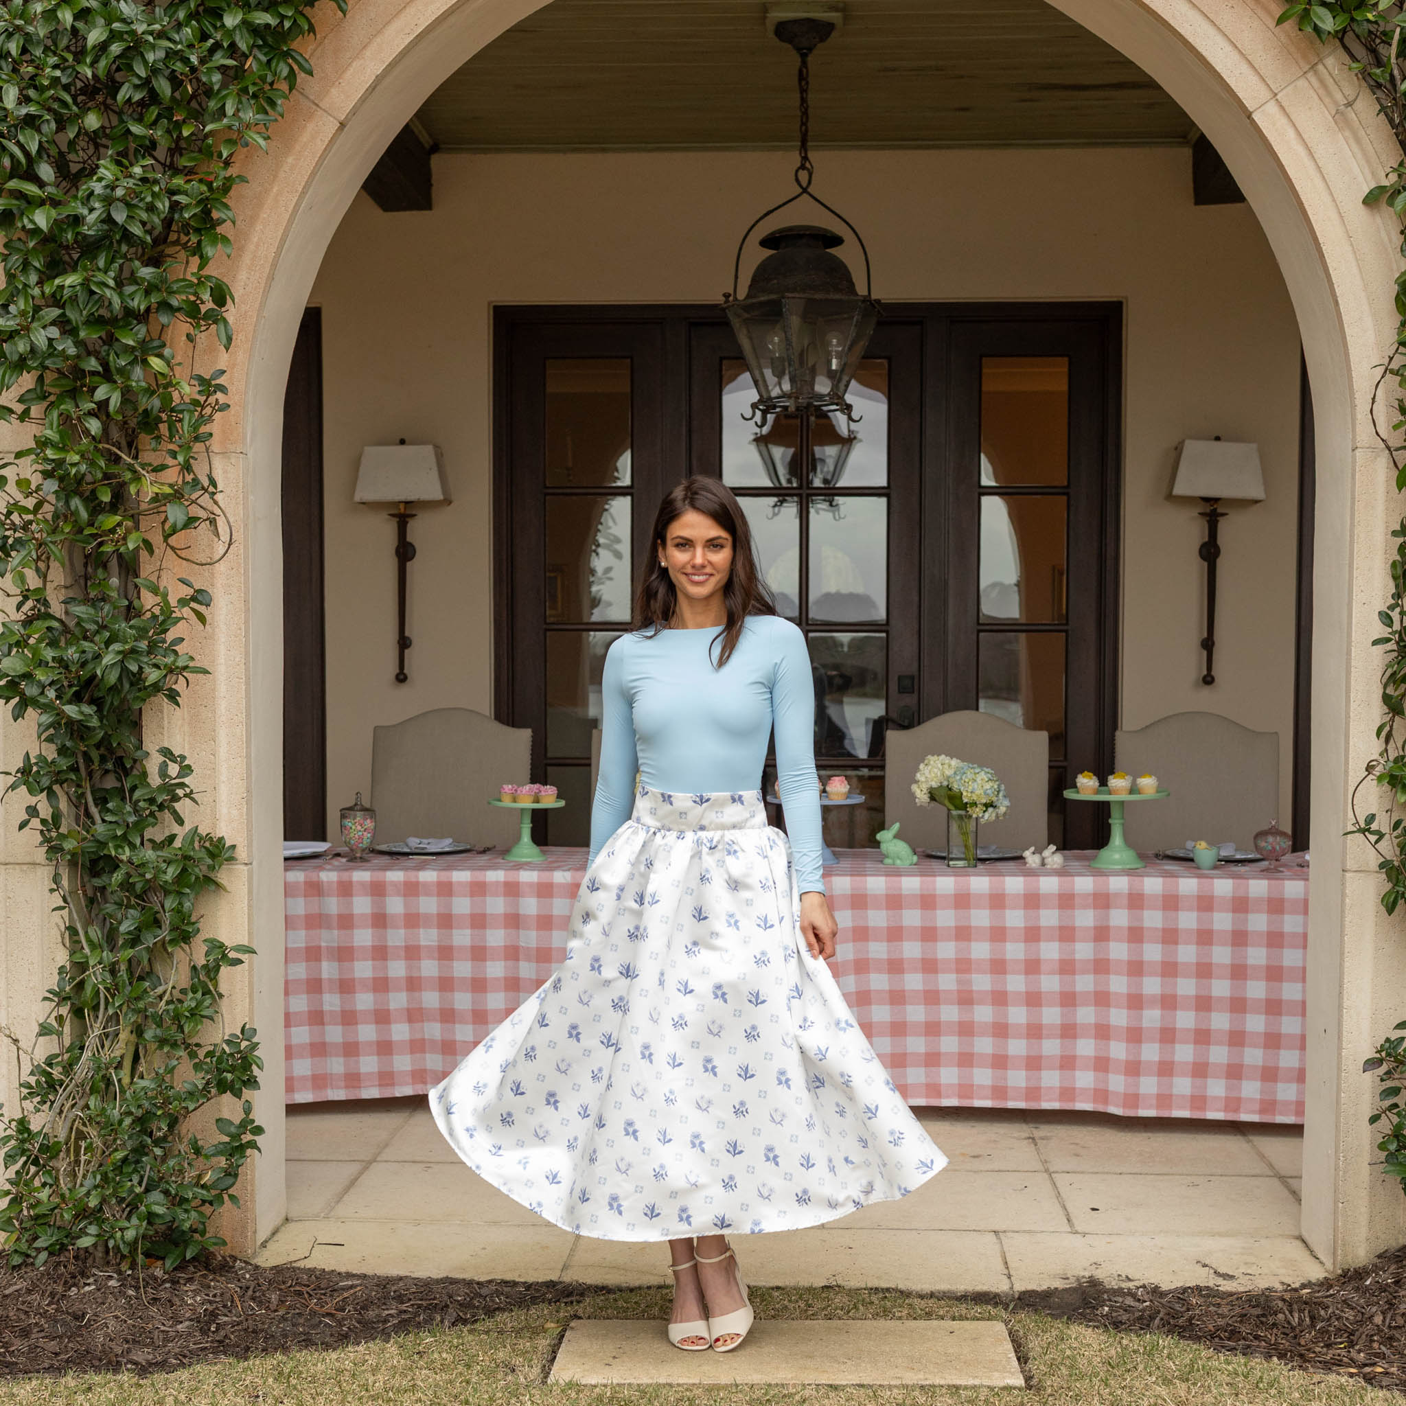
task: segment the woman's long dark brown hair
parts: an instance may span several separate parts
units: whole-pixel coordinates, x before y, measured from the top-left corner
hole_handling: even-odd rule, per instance
[[[640,572],[640,588],[634,593],[634,617],[630,628],[648,630],[655,636],[661,630],[668,630],[673,621],[679,603],[678,591],[668,568],[659,561],[658,548],[664,546],[671,523],[690,509],[711,517],[733,538],[733,569],[723,585],[727,624],[723,626],[723,648],[717,659],[717,668],[723,668],[742,637],[742,621],[751,614],[776,614],[776,599],[756,569],[747,513],[720,478],[685,478],[664,495],[650,537],[652,550]],[[714,638],[709,644],[710,655],[716,643]]]

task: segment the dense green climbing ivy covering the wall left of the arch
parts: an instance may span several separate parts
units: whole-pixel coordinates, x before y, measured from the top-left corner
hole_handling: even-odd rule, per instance
[[[232,849],[187,823],[191,765],[146,734],[205,672],[191,568],[229,548],[209,363],[233,160],[311,72],[311,34],[277,0],[0,0],[0,419],[24,444],[0,453],[0,702],[32,740],[3,794],[63,950],[37,1038],[6,1032],[10,1264],[224,1244],[211,1216],[262,1132],[256,1031],[221,1022],[252,949],[200,921]]]

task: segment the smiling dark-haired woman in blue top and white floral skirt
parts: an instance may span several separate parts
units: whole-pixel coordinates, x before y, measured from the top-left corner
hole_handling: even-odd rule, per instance
[[[948,1159],[825,966],[810,658],[717,479],[659,505],[603,695],[565,960],[430,1107],[470,1167],[554,1225],[668,1240],[669,1341],[731,1351],[752,1309],[724,1232],[832,1220]],[[758,789],[772,733],[789,841]]]

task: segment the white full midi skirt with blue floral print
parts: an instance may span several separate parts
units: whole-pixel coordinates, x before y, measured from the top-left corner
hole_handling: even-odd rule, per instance
[[[602,1240],[794,1230],[948,1159],[800,932],[762,793],[641,787],[567,956],[430,1091],[481,1177]]]

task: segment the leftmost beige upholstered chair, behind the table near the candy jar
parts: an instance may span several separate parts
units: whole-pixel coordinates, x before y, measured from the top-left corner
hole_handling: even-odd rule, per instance
[[[489,806],[503,782],[531,773],[531,728],[495,723],[468,707],[436,707],[371,730],[371,804],[377,844],[453,835],[512,845],[515,811]]]

